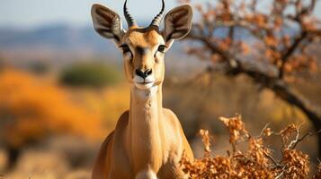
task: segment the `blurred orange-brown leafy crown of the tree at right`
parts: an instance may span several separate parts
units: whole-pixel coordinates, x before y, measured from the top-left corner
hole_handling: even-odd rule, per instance
[[[321,21],[313,15],[316,4],[316,0],[273,0],[264,4],[271,10],[264,11],[257,0],[195,4],[201,21],[194,24],[190,38],[202,44],[189,52],[202,57],[208,52],[214,64],[228,61],[227,67],[244,63],[240,58],[255,59],[256,65],[271,64],[278,78],[286,81],[295,72],[315,72],[317,56],[309,47],[321,37]]]

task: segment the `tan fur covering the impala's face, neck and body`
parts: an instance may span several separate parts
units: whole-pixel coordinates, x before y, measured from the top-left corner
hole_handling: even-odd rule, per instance
[[[93,15],[95,18],[96,14]],[[121,34],[119,31],[118,35]],[[110,34],[107,37],[110,38]],[[92,178],[187,178],[179,162],[183,152],[193,160],[192,149],[176,115],[162,105],[165,62],[164,54],[157,49],[160,45],[167,45],[167,42],[158,27],[154,26],[130,27],[119,37],[117,44],[126,44],[131,51],[131,55],[124,54],[125,74],[131,85],[130,106],[103,142]],[[173,40],[170,41],[173,43]],[[154,79],[152,87],[141,89],[138,86],[135,81],[137,69],[142,72],[152,70],[149,75]]]

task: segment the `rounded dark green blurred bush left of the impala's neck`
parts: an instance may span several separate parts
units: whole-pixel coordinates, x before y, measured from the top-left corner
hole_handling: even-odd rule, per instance
[[[69,86],[101,88],[120,81],[120,73],[103,63],[79,63],[63,70],[59,81]]]

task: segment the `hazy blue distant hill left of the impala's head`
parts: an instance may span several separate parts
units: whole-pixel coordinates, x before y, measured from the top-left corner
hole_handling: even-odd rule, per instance
[[[73,28],[67,25],[52,25],[35,30],[0,28],[1,49],[39,49],[103,52],[111,49],[111,43],[99,37],[93,27]],[[112,50],[111,50],[112,52]]]

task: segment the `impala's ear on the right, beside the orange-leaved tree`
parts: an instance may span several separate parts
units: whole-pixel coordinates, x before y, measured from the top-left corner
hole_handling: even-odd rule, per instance
[[[163,33],[166,43],[184,38],[192,28],[192,7],[188,4],[175,7],[165,16]]]

